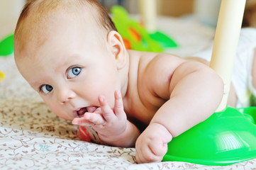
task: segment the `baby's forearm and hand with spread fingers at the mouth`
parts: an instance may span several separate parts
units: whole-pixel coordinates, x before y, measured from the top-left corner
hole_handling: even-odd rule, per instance
[[[94,113],[85,113],[83,118],[74,118],[76,125],[91,126],[98,132],[101,142],[118,147],[133,147],[140,131],[126,118],[120,91],[115,92],[115,106],[108,106],[106,98],[99,96],[100,108]]]

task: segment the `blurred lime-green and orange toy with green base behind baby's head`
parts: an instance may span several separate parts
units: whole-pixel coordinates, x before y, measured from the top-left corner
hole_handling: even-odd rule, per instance
[[[111,13],[113,14],[113,23],[121,34],[126,49],[163,52],[165,48],[177,47],[174,40],[160,31],[148,33],[140,23],[128,16],[128,12],[123,7],[113,6]]]

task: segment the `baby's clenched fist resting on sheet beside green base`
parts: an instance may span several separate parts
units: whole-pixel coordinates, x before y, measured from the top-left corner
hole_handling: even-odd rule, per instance
[[[163,125],[151,123],[136,141],[136,162],[161,162],[171,140],[172,135]]]

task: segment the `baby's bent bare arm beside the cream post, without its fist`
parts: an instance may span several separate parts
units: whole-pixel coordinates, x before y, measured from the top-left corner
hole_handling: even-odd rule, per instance
[[[151,123],[164,125],[176,137],[216,111],[223,97],[223,81],[205,64],[187,61],[172,74],[169,94]]]

